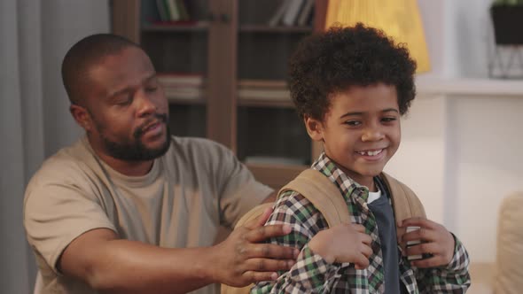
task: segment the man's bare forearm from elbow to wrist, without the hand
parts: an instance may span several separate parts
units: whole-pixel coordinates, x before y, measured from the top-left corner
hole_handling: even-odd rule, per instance
[[[83,278],[104,293],[186,293],[216,281],[209,247],[168,249],[112,240],[93,253]]]

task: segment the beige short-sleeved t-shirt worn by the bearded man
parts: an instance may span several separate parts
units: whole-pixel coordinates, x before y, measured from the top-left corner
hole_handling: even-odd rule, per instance
[[[90,229],[161,247],[209,246],[220,225],[233,227],[270,192],[231,151],[206,139],[173,136],[148,174],[130,177],[106,166],[83,138],[47,159],[27,185],[24,225],[43,293],[96,293],[56,267]],[[217,292],[210,285],[195,293]]]

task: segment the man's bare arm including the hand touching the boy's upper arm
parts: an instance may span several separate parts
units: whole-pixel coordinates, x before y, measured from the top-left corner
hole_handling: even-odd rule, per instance
[[[254,220],[260,223],[266,219]],[[103,293],[185,293],[214,282],[246,286],[288,270],[298,251],[261,243],[285,236],[290,227],[251,224],[213,247],[162,248],[118,239],[97,228],[74,239],[59,259],[59,271]]]

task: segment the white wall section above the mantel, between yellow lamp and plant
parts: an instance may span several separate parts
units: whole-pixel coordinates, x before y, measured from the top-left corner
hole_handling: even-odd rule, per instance
[[[493,32],[492,0],[418,0],[432,71],[424,76],[486,78]]]

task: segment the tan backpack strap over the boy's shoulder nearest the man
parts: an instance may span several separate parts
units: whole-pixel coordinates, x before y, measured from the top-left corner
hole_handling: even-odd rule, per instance
[[[329,228],[340,223],[350,223],[350,213],[340,190],[324,174],[308,168],[278,192],[280,197],[293,190],[306,197],[324,215]]]

